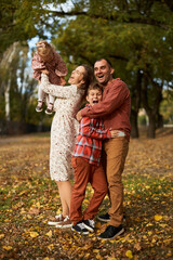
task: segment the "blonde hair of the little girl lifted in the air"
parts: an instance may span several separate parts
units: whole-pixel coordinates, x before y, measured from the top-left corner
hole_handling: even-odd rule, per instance
[[[49,61],[53,57],[54,47],[45,40],[41,40],[36,43],[38,54],[42,57],[43,61]]]

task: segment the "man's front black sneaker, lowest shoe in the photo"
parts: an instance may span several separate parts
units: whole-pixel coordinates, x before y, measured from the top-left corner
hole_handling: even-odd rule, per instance
[[[124,232],[124,227],[122,225],[114,226],[108,225],[101,235],[98,235],[98,239],[114,239],[117,236],[121,235]]]

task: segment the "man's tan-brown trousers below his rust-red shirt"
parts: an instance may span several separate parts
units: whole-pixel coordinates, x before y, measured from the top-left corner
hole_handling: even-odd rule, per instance
[[[109,209],[110,225],[119,226],[123,219],[123,184],[122,172],[129,151],[125,136],[109,139],[104,144],[106,153],[106,176],[108,181],[111,207]]]

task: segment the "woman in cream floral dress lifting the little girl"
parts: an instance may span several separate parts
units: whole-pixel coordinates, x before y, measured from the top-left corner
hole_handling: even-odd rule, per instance
[[[88,65],[78,66],[71,73],[69,87],[51,84],[45,74],[41,77],[41,89],[56,96],[55,115],[51,127],[50,174],[57,183],[63,212],[49,222],[51,225],[63,221],[63,227],[71,226],[69,212],[72,187],[69,180],[74,176],[71,153],[78,129],[75,116],[92,80],[93,72]]]

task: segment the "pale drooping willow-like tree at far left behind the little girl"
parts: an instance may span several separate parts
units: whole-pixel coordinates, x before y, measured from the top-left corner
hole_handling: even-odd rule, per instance
[[[0,107],[3,110],[4,106],[5,110],[4,118],[1,115],[1,119],[9,133],[13,132],[16,125],[18,131],[25,132],[29,100],[36,88],[36,81],[30,79],[27,72],[27,44],[14,42],[4,52],[0,63],[1,91],[4,93],[4,103]]]

